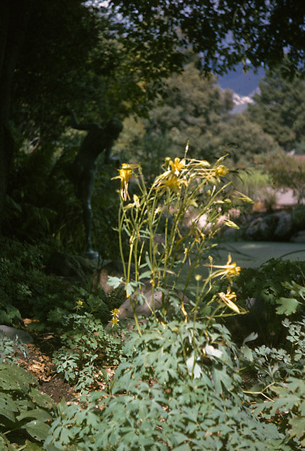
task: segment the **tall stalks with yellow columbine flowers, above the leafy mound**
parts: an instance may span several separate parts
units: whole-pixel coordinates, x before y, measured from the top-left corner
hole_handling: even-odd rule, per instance
[[[228,257],[224,266],[208,261],[208,251],[216,245],[213,238],[223,226],[237,225],[230,219],[232,199],[226,192],[229,173],[222,157],[211,166],[208,161],[187,158],[166,159],[163,171],[147,188],[140,165],[123,164],[120,179],[120,211],[118,236],[124,266],[126,296],[130,297],[135,322],[138,302],[147,302],[151,313],[156,314],[156,295],[161,297],[162,321],[166,322],[168,310],[180,311],[184,321],[197,313],[211,292],[213,279],[238,276],[239,267]],[[130,199],[129,181],[136,180],[136,194]],[[249,202],[240,193],[235,199]],[[130,202],[127,202],[129,200]],[[223,220],[220,222],[220,216]],[[204,225],[202,225],[204,219]],[[129,241],[125,254],[123,242]],[[207,278],[198,277],[202,266],[210,268]],[[183,275],[184,282],[181,284]],[[143,292],[144,281],[151,284],[151,302]],[[194,290],[192,286],[196,285]],[[192,297],[189,297],[189,292]],[[188,297],[187,297],[188,296]],[[216,300],[217,299],[217,300]],[[221,292],[208,302],[213,304],[213,315],[241,313],[235,293]],[[187,307],[186,307],[187,306]],[[187,312],[189,310],[189,313]],[[227,313],[225,313],[227,312]]]

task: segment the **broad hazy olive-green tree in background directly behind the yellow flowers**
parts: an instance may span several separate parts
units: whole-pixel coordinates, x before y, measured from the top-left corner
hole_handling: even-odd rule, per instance
[[[125,121],[117,147],[127,159],[142,161],[147,173],[154,173],[166,156],[181,156],[188,141],[190,156],[210,161],[229,154],[239,165],[279,149],[261,125],[245,114],[231,114],[232,106],[230,89],[220,89],[215,76],[204,77],[191,63],[168,79],[166,97],[148,119]]]

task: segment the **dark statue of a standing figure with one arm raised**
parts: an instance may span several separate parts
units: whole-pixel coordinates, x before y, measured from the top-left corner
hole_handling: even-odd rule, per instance
[[[87,250],[86,257],[97,259],[99,254],[92,249],[92,207],[91,197],[94,187],[96,160],[101,152],[105,151],[104,163],[111,159],[111,147],[120,132],[123,124],[116,118],[101,127],[98,123],[78,123],[74,111],[70,111],[72,127],[77,130],[87,130],[87,135],[82,141],[80,150],[74,161],[68,163],[65,168],[67,177],[73,182],[75,195],[82,204],[82,214],[86,233]]]

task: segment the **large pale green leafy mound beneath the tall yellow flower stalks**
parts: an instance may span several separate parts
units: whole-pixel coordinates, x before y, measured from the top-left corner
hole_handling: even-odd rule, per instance
[[[287,449],[275,425],[251,414],[223,326],[153,319],[130,348],[135,357],[118,367],[111,396],[91,393],[82,409],[63,406],[47,450]]]

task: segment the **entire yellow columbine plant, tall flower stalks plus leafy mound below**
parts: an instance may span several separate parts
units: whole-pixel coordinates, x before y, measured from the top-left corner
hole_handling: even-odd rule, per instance
[[[125,347],[133,359],[119,365],[110,396],[86,395],[81,398],[82,409],[75,404],[61,406],[46,449],[51,450],[51,445],[58,450],[68,445],[122,451],[233,450],[237,446],[241,450],[285,449],[284,437],[274,425],[261,424],[251,416],[247,397],[240,390],[237,349],[228,330],[213,320],[216,314],[240,311],[236,295],[230,291],[232,278],[240,268],[230,256],[225,265],[214,265],[207,259],[212,237],[220,228],[218,218],[232,205],[225,196],[226,184],[220,181],[228,170],[220,163],[210,168],[206,161],[186,157],[168,160],[149,190],[140,168],[123,165],[120,169],[118,230],[120,242],[124,234],[130,241],[127,259],[123,247],[121,252],[123,261],[127,260],[125,290],[139,332]],[[133,203],[125,204],[128,183],[134,175],[139,191]],[[197,216],[187,228],[183,220],[192,208],[197,209]],[[204,231],[198,223],[203,215]],[[235,226],[230,218],[225,222]],[[161,236],[164,242],[158,247],[156,237]],[[196,274],[204,256],[206,279]],[[192,265],[179,297],[175,292],[187,261]],[[227,279],[229,286],[206,301],[217,277]],[[189,300],[185,289],[192,278],[196,283]],[[148,302],[142,291],[145,279],[151,283],[152,316],[147,326],[140,328],[137,303]],[[112,280],[113,286],[119,282]],[[157,319],[154,305],[154,296],[160,292],[162,321]],[[199,323],[197,312],[202,303],[208,307],[208,316]],[[175,319],[167,315],[170,309]]]

